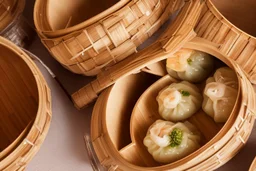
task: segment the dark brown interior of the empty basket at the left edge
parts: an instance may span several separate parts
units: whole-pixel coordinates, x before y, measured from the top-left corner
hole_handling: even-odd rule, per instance
[[[30,129],[38,111],[38,88],[27,64],[0,45],[0,153]],[[19,137],[22,139],[22,137]],[[16,143],[16,142],[15,142]]]

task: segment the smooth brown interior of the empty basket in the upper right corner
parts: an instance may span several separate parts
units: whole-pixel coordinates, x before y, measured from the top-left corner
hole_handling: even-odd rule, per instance
[[[232,24],[256,37],[255,0],[212,0],[219,12]]]

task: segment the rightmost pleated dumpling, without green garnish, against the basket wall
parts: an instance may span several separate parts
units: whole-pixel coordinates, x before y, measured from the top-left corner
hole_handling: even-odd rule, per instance
[[[238,93],[236,74],[228,67],[216,70],[206,81],[202,108],[215,122],[226,122]]]

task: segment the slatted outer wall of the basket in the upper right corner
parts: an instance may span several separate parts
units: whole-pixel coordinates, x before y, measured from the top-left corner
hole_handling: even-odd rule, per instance
[[[210,1],[195,27],[197,36],[218,44],[218,49],[235,60],[256,83],[256,39],[223,18]]]

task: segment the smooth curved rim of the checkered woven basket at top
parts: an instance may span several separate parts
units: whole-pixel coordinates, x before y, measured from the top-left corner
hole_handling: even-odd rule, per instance
[[[138,1],[138,0],[135,0],[135,1]],[[60,36],[64,36],[66,34],[69,34],[69,33],[72,33],[72,32],[75,32],[75,31],[78,31],[78,30],[81,30],[83,29],[84,27],[87,27],[89,25],[92,25],[93,23],[96,23],[97,21],[99,20],[102,20],[103,18],[107,17],[108,15],[110,15],[111,13],[113,12],[116,12],[118,11],[120,8],[124,7],[126,4],[130,3],[130,0],[119,0],[119,2],[115,3],[114,5],[112,5],[110,8],[102,11],[101,13],[79,23],[79,24],[76,24],[74,26],[71,26],[71,27],[68,27],[68,28],[64,28],[64,29],[58,29],[58,30],[53,30],[49,24],[49,21],[48,21],[48,17],[47,15],[45,15],[46,17],[46,20],[47,20],[47,25],[48,25],[48,29],[51,29],[51,30],[43,30],[41,27],[40,27],[40,21],[37,20],[37,16],[41,16],[42,13],[39,13],[39,10],[40,9],[40,5],[44,5],[42,3],[46,3],[46,8],[48,7],[49,3],[48,3],[48,0],[36,0],[35,2],[35,6],[34,6],[34,23],[35,23],[35,27],[37,29],[37,32],[39,32],[39,34],[43,37],[47,37],[47,38],[56,38],[56,37],[60,37]],[[46,13],[45,11],[43,13]],[[40,18],[40,17],[39,17]]]

